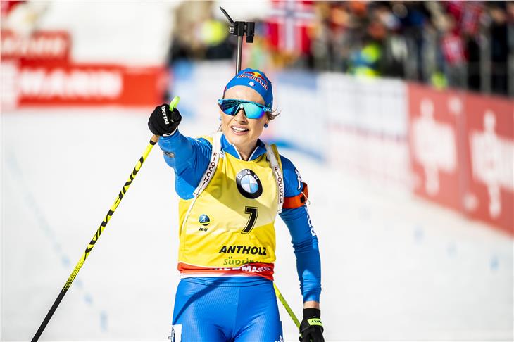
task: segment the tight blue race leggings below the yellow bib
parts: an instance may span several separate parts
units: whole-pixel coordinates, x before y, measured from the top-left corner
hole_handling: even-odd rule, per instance
[[[262,277],[180,280],[171,341],[282,342],[272,281]]]

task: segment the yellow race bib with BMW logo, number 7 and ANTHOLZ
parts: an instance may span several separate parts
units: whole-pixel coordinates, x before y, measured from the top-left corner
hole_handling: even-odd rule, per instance
[[[245,161],[221,151],[203,191],[180,200],[178,268],[183,275],[258,274],[272,279],[280,201],[268,158],[265,153]]]

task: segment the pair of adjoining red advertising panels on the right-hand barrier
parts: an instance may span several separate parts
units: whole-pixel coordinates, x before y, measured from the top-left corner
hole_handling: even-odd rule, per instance
[[[514,101],[408,86],[418,196],[514,235]]]

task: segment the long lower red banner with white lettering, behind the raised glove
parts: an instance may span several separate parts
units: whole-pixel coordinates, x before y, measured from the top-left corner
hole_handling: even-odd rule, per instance
[[[2,75],[2,105],[155,106],[168,82],[165,68],[123,65],[8,63]]]

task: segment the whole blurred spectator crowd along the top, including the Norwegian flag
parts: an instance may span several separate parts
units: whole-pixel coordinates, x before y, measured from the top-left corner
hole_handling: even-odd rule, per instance
[[[236,37],[216,11],[210,1],[176,9],[170,63],[234,58]],[[253,21],[243,65],[514,95],[513,1],[271,1]]]

